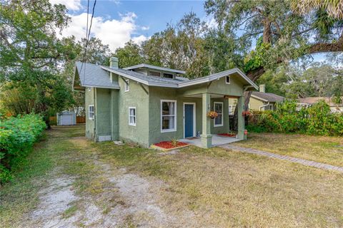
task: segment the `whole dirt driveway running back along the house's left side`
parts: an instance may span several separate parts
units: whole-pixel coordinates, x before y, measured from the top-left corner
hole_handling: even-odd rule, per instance
[[[168,187],[161,180],[100,160],[84,137],[52,135],[71,151],[62,154],[48,185],[39,191],[39,205],[25,227],[197,227],[192,212],[171,214],[160,202],[159,192]]]

